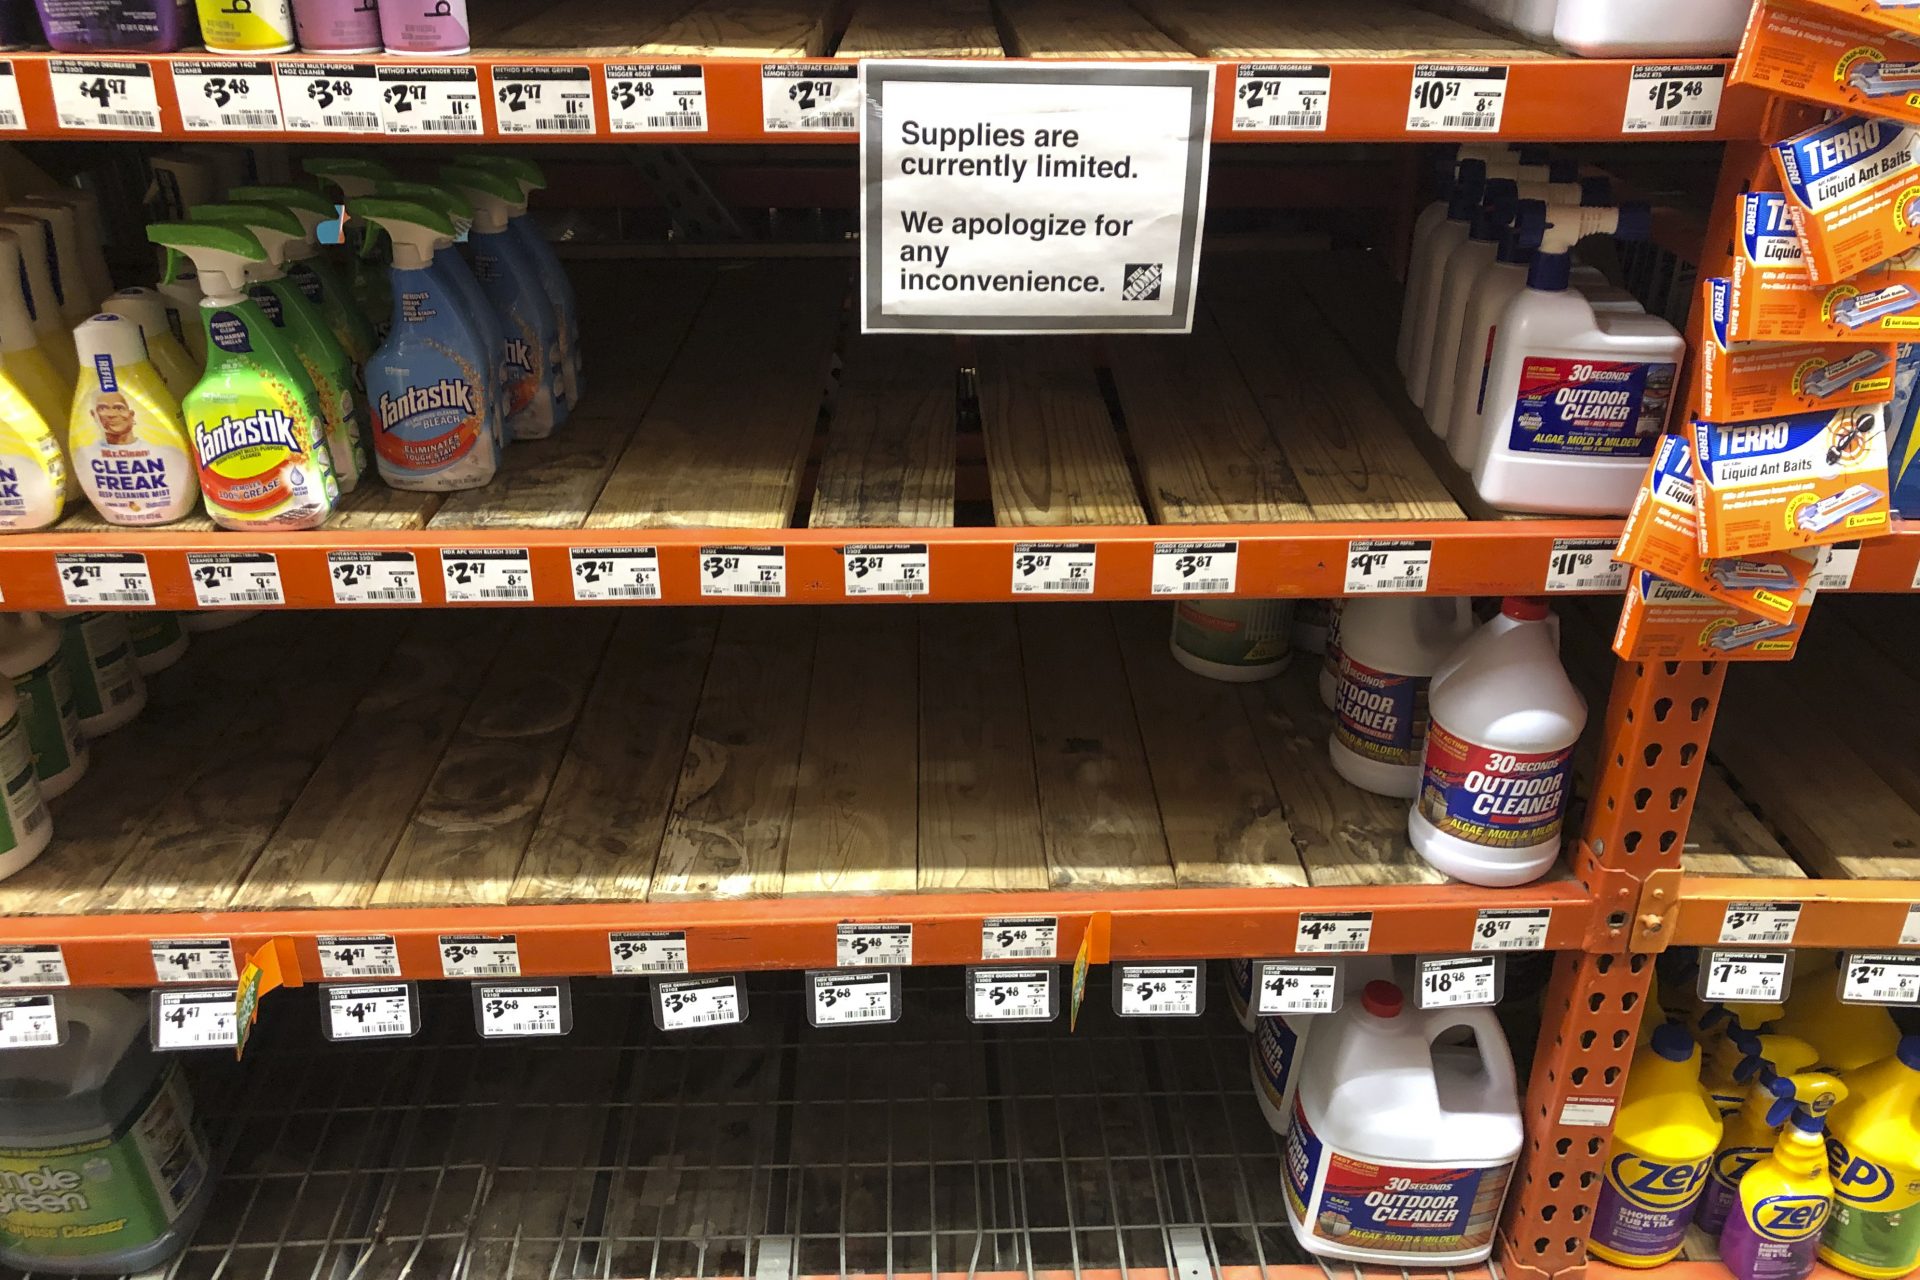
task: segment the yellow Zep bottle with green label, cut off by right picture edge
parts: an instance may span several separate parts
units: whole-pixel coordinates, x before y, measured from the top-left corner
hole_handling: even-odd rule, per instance
[[[1820,1261],[1868,1280],[1920,1267],[1920,1036],[1847,1075],[1828,1121],[1834,1217]]]

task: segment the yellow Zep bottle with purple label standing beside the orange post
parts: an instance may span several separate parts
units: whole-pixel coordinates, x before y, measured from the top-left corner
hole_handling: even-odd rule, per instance
[[[1672,1023],[1655,1027],[1634,1054],[1613,1119],[1588,1251],[1615,1267],[1672,1261],[1718,1146],[1720,1113],[1699,1082],[1699,1046]]]

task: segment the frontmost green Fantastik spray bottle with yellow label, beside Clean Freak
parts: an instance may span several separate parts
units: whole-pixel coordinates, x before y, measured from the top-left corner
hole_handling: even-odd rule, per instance
[[[146,238],[190,257],[205,290],[207,372],[182,411],[207,514],[228,530],[319,528],[340,499],[319,393],[246,294],[246,273],[267,249],[250,232],[204,223],[154,223]]]

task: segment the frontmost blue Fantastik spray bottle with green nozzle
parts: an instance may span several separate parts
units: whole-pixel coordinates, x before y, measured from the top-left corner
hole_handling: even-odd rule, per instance
[[[380,476],[396,489],[476,489],[499,466],[486,407],[493,353],[434,269],[434,242],[453,225],[411,200],[363,196],[348,211],[394,242],[392,328],[367,365]]]

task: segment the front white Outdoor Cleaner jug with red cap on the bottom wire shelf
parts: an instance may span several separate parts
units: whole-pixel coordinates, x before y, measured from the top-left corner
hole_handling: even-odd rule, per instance
[[[1284,1159],[1300,1247],[1423,1268],[1486,1261],[1524,1138],[1492,1009],[1423,1013],[1373,981],[1315,1019],[1294,1073]]]

